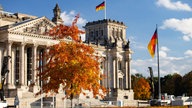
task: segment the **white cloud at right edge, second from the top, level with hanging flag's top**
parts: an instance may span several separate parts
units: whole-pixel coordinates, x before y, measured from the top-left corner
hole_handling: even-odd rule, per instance
[[[162,29],[170,28],[183,34],[184,41],[192,39],[192,18],[176,19],[170,18],[163,22]]]

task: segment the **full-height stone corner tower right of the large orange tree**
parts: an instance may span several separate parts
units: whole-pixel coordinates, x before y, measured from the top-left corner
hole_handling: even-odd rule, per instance
[[[101,56],[101,73],[106,76],[101,84],[110,92],[108,101],[129,103],[133,100],[131,88],[131,54],[130,41],[126,40],[126,26],[123,22],[104,19],[88,22],[85,25],[85,43],[93,46]]]

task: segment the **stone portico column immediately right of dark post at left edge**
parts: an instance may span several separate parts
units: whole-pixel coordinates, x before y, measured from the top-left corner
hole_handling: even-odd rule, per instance
[[[12,47],[12,41],[8,41],[7,42],[7,56],[11,56],[11,47]],[[11,58],[12,59],[12,58]],[[11,59],[8,59],[8,70],[9,70],[9,73],[8,73],[8,85],[11,85],[11,80],[12,80],[12,69],[11,69]]]

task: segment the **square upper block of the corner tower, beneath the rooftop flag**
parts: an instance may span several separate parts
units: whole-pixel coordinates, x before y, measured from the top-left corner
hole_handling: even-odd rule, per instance
[[[126,26],[123,22],[104,19],[88,22],[85,25],[86,42],[105,45],[115,41],[126,41]]]

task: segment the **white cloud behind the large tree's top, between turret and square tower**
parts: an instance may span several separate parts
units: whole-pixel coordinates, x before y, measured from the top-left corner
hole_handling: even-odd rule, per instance
[[[71,25],[77,14],[78,13],[76,13],[74,10],[70,11],[69,13],[64,11],[61,13],[61,18],[63,19],[65,25]],[[86,19],[79,17],[77,21],[77,26],[79,27],[79,29],[83,30],[83,26],[85,26],[86,23]],[[81,40],[85,40],[85,34],[81,34]]]

